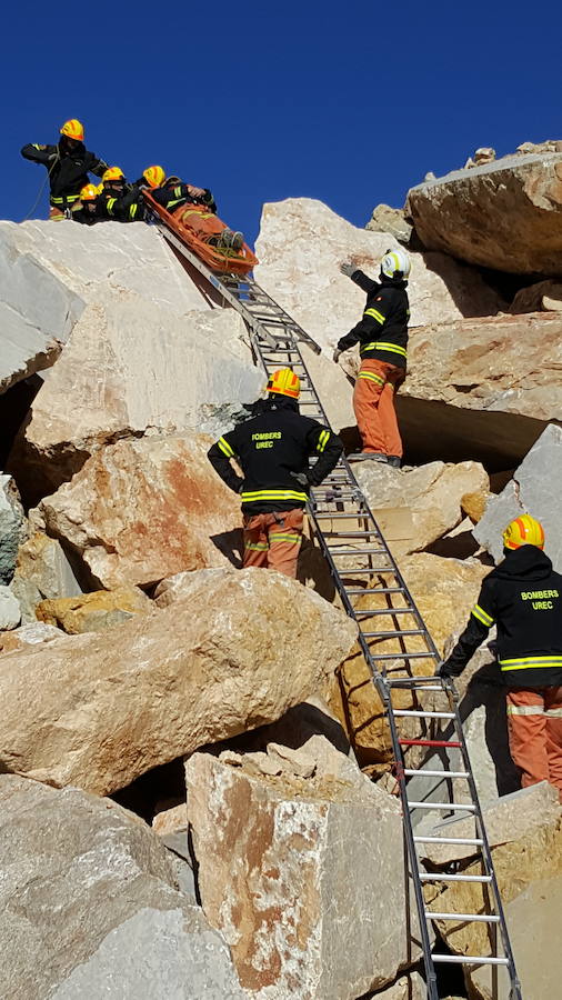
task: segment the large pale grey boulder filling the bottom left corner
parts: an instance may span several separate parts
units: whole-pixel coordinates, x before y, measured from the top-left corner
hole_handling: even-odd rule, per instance
[[[242,1000],[228,949],[116,802],[0,777],[0,993]]]

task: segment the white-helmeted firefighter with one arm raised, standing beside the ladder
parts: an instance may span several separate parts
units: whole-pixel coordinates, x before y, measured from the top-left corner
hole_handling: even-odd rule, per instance
[[[367,292],[362,319],[338,341],[337,362],[342,351],[359,342],[361,368],[353,392],[353,409],[362,441],[362,458],[400,468],[402,439],[394,410],[394,393],[405,378],[408,322],[408,277],[410,258],[405,250],[388,250],[381,261],[380,280],[373,281],[354,264],[340,270]]]

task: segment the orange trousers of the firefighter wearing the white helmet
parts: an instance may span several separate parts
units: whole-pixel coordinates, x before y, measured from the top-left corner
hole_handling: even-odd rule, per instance
[[[353,410],[363,451],[395,454],[402,458],[402,439],[394,410],[394,392],[405,379],[405,369],[387,361],[368,358],[353,391]]]

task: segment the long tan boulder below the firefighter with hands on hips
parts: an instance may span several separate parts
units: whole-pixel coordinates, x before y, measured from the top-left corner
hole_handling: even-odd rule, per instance
[[[280,718],[322,689],[355,634],[342,611],[278,573],[202,579],[119,629],[6,654],[0,769],[102,794],[123,788]]]

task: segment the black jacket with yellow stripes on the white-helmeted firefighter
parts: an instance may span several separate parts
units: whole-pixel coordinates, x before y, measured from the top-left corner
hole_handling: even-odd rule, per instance
[[[410,303],[405,281],[373,281],[363,271],[354,271],[351,280],[367,292],[367,306],[359,323],[338,341],[338,350],[347,351],[359,342],[362,359],[378,358],[405,368]]]

